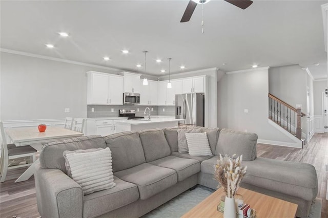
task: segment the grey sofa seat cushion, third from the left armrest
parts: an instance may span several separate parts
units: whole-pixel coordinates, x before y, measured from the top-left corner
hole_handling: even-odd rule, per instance
[[[174,169],[177,173],[178,181],[185,180],[200,171],[199,161],[174,156],[168,156],[149,163],[156,166]]]

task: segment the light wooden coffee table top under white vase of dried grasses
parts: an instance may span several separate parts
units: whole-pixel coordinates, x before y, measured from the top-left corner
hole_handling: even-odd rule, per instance
[[[224,194],[219,188],[205,200],[200,202],[182,217],[223,217],[223,213],[217,211],[220,197]],[[245,188],[239,188],[238,194],[244,198],[244,203],[256,210],[256,218],[267,217],[295,217],[297,204],[270,197]],[[237,216],[238,217],[238,216]]]

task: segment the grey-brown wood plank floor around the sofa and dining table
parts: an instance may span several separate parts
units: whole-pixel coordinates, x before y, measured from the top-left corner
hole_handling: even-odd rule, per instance
[[[322,199],[321,217],[328,217],[328,202],[325,200],[328,172],[328,134],[315,134],[303,149],[274,145],[257,145],[257,156],[278,160],[310,163],[315,166],[318,175],[318,198]],[[8,171],[6,181],[0,184],[0,217],[39,217],[37,211],[34,177],[28,181],[14,183],[25,170]]]

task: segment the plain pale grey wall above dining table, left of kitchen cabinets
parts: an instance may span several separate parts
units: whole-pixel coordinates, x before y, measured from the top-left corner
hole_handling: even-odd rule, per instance
[[[1,52],[1,120],[87,117],[87,71],[105,69]],[[64,113],[70,108],[70,113]]]

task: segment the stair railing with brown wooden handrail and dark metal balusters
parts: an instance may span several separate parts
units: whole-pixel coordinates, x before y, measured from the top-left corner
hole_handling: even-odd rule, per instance
[[[268,97],[269,119],[299,139],[303,147],[301,117],[305,114],[301,112],[302,109],[300,107],[295,108],[270,93]]]

